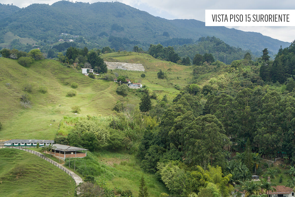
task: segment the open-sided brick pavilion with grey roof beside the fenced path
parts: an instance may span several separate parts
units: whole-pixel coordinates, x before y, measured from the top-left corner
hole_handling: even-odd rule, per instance
[[[51,155],[53,155],[56,158],[60,158],[65,160],[65,158],[79,158],[79,157],[86,157],[87,150],[75,146],[68,146],[63,144],[54,144],[53,152],[51,152]],[[45,153],[50,154],[49,151],[45,151]]]

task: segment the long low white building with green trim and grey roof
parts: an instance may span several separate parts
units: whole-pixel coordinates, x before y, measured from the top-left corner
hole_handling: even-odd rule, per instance
[[[54,140],[40,140],[40,139],[12,139],[4,142],[5,146],[46,146],[54,144]]]

